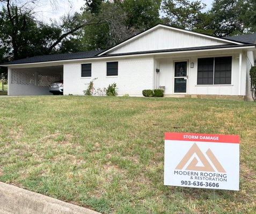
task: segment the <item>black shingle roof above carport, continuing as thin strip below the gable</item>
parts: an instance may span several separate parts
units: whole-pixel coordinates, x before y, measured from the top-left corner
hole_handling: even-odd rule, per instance
[[[175,52],[175,51],[191,51],[191,50],[207,50],[207,49],[217,49],[217,48],[236,48],[236,47],[246,47],[252,44],[221,44],[221,45],[210,45],[202,47],[191,47],[191,48],[175,48],[175,49],[165,49],[165,50],[150,50],[150,51],[137,51],[129,53],[115,53],[106,54],[102,56],[97,56],[102,51],[90,51],[90,52],[78,52],[78,53],[64,53],[58,55],[45,55],[36,56],[26,59],[19,59],[12,62],[0,64],[1,65],[13,65],[13,64],[26,64],[26,63],[40,63],[40,62],[52,62],[58,60],[69,60],[69,59],[86,59],[86,58],[98,58],[98,57],[109,57],[109,56],[128,56],[128,55],[139,55],[145,53],[161,53],[161,52]]]

